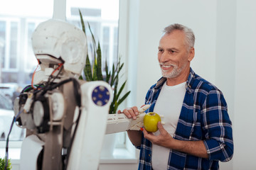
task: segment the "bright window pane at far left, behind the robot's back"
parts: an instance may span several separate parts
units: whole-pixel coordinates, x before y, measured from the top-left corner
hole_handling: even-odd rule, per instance
[[[27,4],[31,4],[28,6]],[[33,6],[33,8],[31,8]],[[31,34],[38,23],[53,16],[53,2],[6,1],[0,6],[0,140],[6,140],[14,116],[14,98],[36,68]],[[25,130],[14,125],[10,141],[23,140]]]

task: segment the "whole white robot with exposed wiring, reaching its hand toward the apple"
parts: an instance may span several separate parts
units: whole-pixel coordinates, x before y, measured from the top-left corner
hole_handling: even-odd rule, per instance
[[[105,134],[143,126],[124,114],[109,115],[112,88],[104,81],[78,80],[85,67],[86,38],[79,28],[58,20],[41,23],[32,35],[41,69],[16,98],[18,125],[26,128],[22,169],[96,170]]]

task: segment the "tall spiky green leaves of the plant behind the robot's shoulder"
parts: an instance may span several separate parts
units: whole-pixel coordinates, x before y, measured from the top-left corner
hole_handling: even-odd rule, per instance
[[[85,23],[82,18],[82,13],[79,10],[80,13],[80,22],[82,25],[82,31],[85,33]],[[109,113],[117,113],[117,108],[118,106],[129,96],[129,93],[131,91],[128,91],[124,96],[120,96],[122,91],[124,90],[124,86],[127,81],[124,81],[122,86],[118,89],[119,85],[119,73],[122,70],[124,63],[120,63],[120,58],[117,62],[117,65],[114,66],[112,65],[112,69],[109,70],[107,66],[107,60],[105,60],[105,77],[102,76],[102,52],[100,49],[100,42],[97,43],[95,41],[95,36],[92,33],[92,30],[90,28],[90,24],[88,23],[88,28],[90,30],[90,34],[92,35],[92,58],[93,63],[90,63],[89,55],[88,55],[88,50],[87,50],[87,55],[86,55],[86,61],[85,61],[85,68],[83,69],[83,72],[85,74],[85,80],[86,81],[106,81],[110,86],[112,87],[114,94],[113,94],[113,100],[112,103],[110,104],[110,111]],[[88,43],[87,43],[88,45]],[[88,49],[88,48],[87,48]],[[83,79],[82,76],[80,76],[80,79]]]

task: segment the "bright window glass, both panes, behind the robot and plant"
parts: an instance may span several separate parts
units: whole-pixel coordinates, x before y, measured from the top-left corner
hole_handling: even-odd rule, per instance
[[[65,2],[65,1],[63,1]],[[15,4],[15,6],[14,6]],[[28,6],[27,4],[30,4]],[[32,8],[31,8],[32,6]],[[78,1],[66,0],[67,21],[80,26],[79,9],[84,21],[90,23],[90,28],[96,41],[102,46],[102,63],[107,60],[109,66],[117,63],[119,0]],[[24,12],[26,11],[26,12]],[[0,94],[5,98],[5,105],[13,107],[14,98],[26,85],[31,84],[31,78],[36,65],[36,57],[31,47],[31,35],[39,23],[53,16],[53,1],[42,2],[26,0],[6,1],[0,6]],[[87,27],[87,33],[89,29]],[[90,41],[90,36],[87,36]],[[92,60],[92,59],[91,59]],[[102,69],[105,69],[102,64]],[[2,101],[2,100],[1,100]],[[11,120],[12,109],[1,108],[9,112]],[[0,111],[1,126],[8,129],[3,110]],[[1,128],[2,129],[2,128]],[[16,132],[17,131],[17,132]],[[6,132],[2,132],[1,140],[6,140]],[[24,130],[14,129],[10,140],[23,140]],[[125,135],[120,134],[117,143],[124,145]]]

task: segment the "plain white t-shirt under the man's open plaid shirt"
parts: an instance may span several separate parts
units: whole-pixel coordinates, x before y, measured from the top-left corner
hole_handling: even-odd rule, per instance
[[[186,94],[186,82],[176,86],[167,86],[166,82],[157,98],[154,112],[164,115],[164,129],[173,137],[181,114],[183,99]],[[159,135],[157,130],[154,135]],[[152,145],[152,168],[154,170],[167,169],[170,149],[159,145]]]

